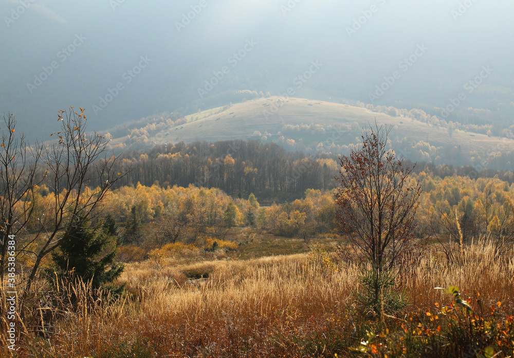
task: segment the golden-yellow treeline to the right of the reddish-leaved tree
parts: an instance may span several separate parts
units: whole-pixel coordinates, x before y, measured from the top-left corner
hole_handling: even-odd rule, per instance
[[[423,193],[417,213],[418,234],[447,245],[486,236],[496,250],[514,240],[514,184],[494,178],[416,175]],[[443,246],[444,247],[444,246]]]

